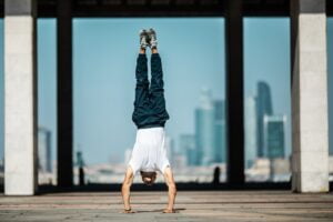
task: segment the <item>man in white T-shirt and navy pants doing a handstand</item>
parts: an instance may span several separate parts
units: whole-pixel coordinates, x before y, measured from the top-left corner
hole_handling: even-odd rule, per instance
[[[165,121],[170,118],[165,109],[163,72],[153,29],[140,31],[140,52],[135,69],[135,100],[132,120],[135,123],[137,139],[128,164],[121,193],[124,212],[131,213],[130,188],[134,175],[140,171],[143,183],[151,185],[157,171],[164,175],[169,200],[164,213],[173,213],[176,188],[165,150]],[[151,82],[148,80],[147,47],[151,48]]]

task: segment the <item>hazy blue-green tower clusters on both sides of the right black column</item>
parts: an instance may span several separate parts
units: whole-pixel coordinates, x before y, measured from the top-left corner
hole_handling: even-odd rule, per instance
[[[256,94],[244,99],[245,168],[258,158],[287,159],[285,148],[286,114],[275,114],[272,108],[271,87],[258,81]],[[179,149],[191,165],[210,165],[226,162],[225,100],[215,100],[209,88],[201,90],[195,112],[195,133],[181,134]],[[258,134],[261,134],[258,137]],[[261,145],[260,145],[261,144]]]

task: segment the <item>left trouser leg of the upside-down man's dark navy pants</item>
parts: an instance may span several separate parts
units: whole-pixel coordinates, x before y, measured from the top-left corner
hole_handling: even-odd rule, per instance
[[[134,123],[144,118],[149,105],[148,64],[144,49],[140,49],[140,53],[137,59],[135,78],[135,100],[134,111],[132,114],[132,120]]]

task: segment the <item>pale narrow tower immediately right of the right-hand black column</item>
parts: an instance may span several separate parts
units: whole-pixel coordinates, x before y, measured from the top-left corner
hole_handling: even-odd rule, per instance
[[[256,159],[256,100],[254,97],[245,99],[245,169]]]

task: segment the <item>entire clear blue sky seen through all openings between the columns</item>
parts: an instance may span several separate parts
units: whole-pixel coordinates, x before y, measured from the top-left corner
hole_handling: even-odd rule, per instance
[[[167,133],[175,140],[175,144],[180,133],[194,132],[194,109],[199,104],[200,89],[208,87],[214,99],[224,99],[223,19],[75,19],[74,149],[83,151],[87,163],[122,162],[124,150],[133,145],[135,127],[131,121],[131,113],[139,48],[138,32],[141,28],[149,27],[158,31],[167,109],[171,115],[167,123]],[[333,39],[332,32],[333,19],[329,19],[329,39]],[[287,114],[286,152],[290,153],[290,20],[245,19],[244,37],[245,97],[255,93],[256,81],[264,80],[270,83],[274,112]],[[38,43],[39,123],[52,131],[52,154],[56,159],[54,19],[38,21]],[[329,48],[330,70],[333,71],[332,41],[329,41]],[[3,58],[2,20],[0,52]],[[330,82],[333,85],[333,78],[330,78]],[[0,60],[0,90],[3,92],[3,59]],[[330,94],[332,101],[332,88]],[[0,117],[2,158],[3,97],[0,99]],[[332,119],[330,125],[333,124]]]

